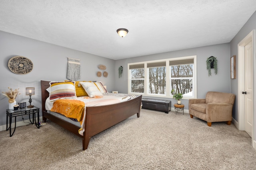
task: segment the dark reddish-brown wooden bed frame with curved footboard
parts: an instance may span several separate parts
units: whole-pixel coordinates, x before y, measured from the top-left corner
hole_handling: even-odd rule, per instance
[[[78,129],[80,129],[80,127],[51,115],[46,111],[45,101],[49,97],[49,92],[46,91],[48,87],[50,87],[49,81],[41,80],[43,121],[46,122],[46,119],[49,119],[50,121],[81,137],[83,139],[83,150],[87,149],[92,136],[116,125],[117,123],[120,123],[134,114],[137,114],[137,117],[140,117],[141,95],[132,100],[118,104],[86,107],[86,127],[84,135],[82,136],[78,133]]]

